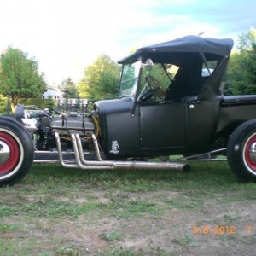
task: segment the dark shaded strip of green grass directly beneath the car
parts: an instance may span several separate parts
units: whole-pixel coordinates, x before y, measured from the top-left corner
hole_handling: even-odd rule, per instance
[[[193,162],[191,172],[167,170],[79,170],[57,164],[34,164],[22,181],[35,186],[79,186],[130,191],[157,189],[219,190],[237,189],[239,180],[227,162]]]

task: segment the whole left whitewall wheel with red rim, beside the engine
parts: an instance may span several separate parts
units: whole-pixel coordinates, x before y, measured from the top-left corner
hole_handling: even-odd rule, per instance
[[[32,138],[19,122],[0,117],[0,187],[18,183],[34,160]]]

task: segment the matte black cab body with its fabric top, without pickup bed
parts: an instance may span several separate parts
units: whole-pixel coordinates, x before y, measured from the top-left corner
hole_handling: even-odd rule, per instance
[[[119,99],[96,102],[104,136],[105,154],[109,158],[155,156],[159,154],[195,154],[211,148],[219,124],[220,102],[230,49],[230,39],[186,37],[143,49],[119,61],[123,65]],[[175,65],[176,76],[170,79],[163,101],[138,102],[142,63]],[[214,71],[202,76],[207,63]],[[134,84],[126,73],[136,70]],[[150,73],[150,71],[148,72]],[[125,95],[127,83],[133,91]],[[224,130],[226,127],[221,127]],[[222,132],[222,131],[219,131]],[[112,142],[119,153],[112,152]],[[195,147],[196,145],[196,147]]]

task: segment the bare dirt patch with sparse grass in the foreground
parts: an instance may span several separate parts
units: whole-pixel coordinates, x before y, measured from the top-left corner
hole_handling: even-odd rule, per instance
[[[29,222],[23,220],[23,233],[2,232],[0,237],[33,240],[38,251],[58,247],[60,255],[69,249],[78,254],[67,255],[104,255],[109,247],[141,253],[134,255],[255,255],[256,205],[252,201],[230,203],[224,200],[228,196],[218,193],[199,201],[166,190],[124,193],[90,189],[90,194],[55,196],[54,201],[74,207],[98,203],[103,210],[77,216],[68,212],[57,217],[33,215]],[[23,195],[22,201],[37,204],[47,198]],[[128,204],[128,213],[120,215],[119,206]],[[7,224],[18,221],[19,215],[6,219]]]

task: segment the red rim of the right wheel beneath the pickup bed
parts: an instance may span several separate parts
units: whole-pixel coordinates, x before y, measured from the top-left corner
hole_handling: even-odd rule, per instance
[[[247,140],[247,143],[244,147],[244,160],[246,161],[247,166],[254,173],[256,173],[256,151],[254,153],[254,150],[256,150],[255,146],[256,146],[256,134],[253,134],[253,136]]]

